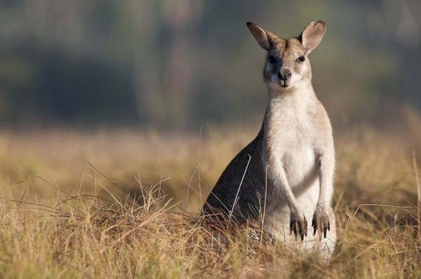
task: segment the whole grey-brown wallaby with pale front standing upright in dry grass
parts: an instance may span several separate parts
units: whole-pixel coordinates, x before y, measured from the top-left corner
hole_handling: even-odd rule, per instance
[[[309,62],[326,25],[311,22],[290,39],[251,22],[247,27],[267,51],[263,77],[269,102],[258,136],[222,172],[203,214],[263,222],[274,238],[306,256],[327,260],[336,242],[331,207],[335,149],[328,115],[314,93]],[[310,219],[313,231],[307,233]]]

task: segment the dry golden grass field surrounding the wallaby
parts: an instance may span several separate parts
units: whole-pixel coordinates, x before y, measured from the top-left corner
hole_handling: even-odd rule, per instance
[[[3,132],[0,278],[420,278],[420,124],[410,114],[399,132],[336,134],[329,266],[197,215],[257,127],[204,129],[200,148],[198,135]]]

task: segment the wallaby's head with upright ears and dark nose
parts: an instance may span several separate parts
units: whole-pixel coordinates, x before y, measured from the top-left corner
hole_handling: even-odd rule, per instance
[[[267,51],[263,77],[269,88],[293,88],[312,80],[308,55],[323,37],[326,30],[323,21],[311,22],[300,36],[290,39],[281,39],[252,22],[247,22],[247,27],[259,46]]]

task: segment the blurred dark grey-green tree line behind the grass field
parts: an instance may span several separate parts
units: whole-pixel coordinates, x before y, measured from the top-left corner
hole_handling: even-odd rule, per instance
[[[260,121],[264,52],[252,21],[296,36],[324,20],[314,86],[334,123],[421,106],[421,2],[1,0],[0,123]]]

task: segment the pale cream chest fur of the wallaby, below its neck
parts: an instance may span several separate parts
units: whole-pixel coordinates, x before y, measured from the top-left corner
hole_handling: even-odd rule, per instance
[[[304,94],[306,98],[298,94],[273,101],[265,116],[264,164],[273,177],[285,178],[292,191],[306,189],[317,177],[312,108],[303,101],[310,93]]]

